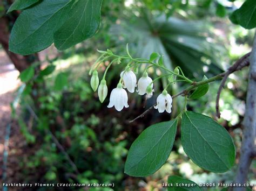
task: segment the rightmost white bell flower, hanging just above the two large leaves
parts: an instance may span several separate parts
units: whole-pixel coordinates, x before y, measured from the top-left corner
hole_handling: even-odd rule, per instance
[[[172,96],[166,90],[157,97],[157,105],[154,109],[158,109],[159,113],[163,113],[164,110],[169,114],[172,112]]]

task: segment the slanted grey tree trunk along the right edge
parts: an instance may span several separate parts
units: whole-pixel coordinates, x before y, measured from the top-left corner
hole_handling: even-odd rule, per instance
[[[256,34],[256,31],[255,31]],[[255,132],[256,132],[256,35],[254,37],[253,48],[250,58],[250,70],[246,98],[246,111],[243,121],[244,130],[242,137],[242,146],[240,151],[240,160],[238,165],[235,183],[241,184],[241,187],[235,187],[233,190],[246,190],[243,185],[247,181],[248,172],[253,157],[255,157]]]

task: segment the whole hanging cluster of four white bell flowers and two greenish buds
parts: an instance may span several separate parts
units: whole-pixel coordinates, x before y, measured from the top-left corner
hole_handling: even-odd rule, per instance
[[[91,87],[94,91],[96,91],[98,88],[99,100],[100,102],[103,102],[107,96],[106,81],[103,78],[99,84],[98,73],[96,70],[92,73]],[[114,107],[117,111],[121,111],[124,107],[128,108],[128,96],[125,89],[127,89],[127,91],[130,93],[134,93],[136,87],[138,87],[136,91],[139,95],[146,94],[147,97],[151,97],[153,95],[153,80],[151,77],[149,77],[147,72],[145,71],[143,76],[140,77],[137,82],[135,73],[129,66],[127,66],[125,70],[120,74],[120,81],[117,84],[117,87],[111,91],[110,102],[107,107]],[[164,90],[163,93],[157,97],[157,105],[154,108],[158,109],[160,113],[164,111],[171,113],[172,97],[167,93],[166,90]]]

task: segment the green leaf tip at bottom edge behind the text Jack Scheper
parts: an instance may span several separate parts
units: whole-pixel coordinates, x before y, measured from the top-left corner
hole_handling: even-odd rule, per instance
[[[179,176],[169,176],[167,187],[168,191],[201,191],[202,189],[193,181],[183,179]],[[187,184],[187,186],[181,186],[180,184]],[[188,186],[189,185],[189,186]]]

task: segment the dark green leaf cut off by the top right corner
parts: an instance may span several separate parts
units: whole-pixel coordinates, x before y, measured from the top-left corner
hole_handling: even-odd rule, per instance
[[[256,1],[246,0],[244,4],[235,10],[230,16],[230,20],[234,24],[239,24],[245,29],[253,29],[256,27]]]

